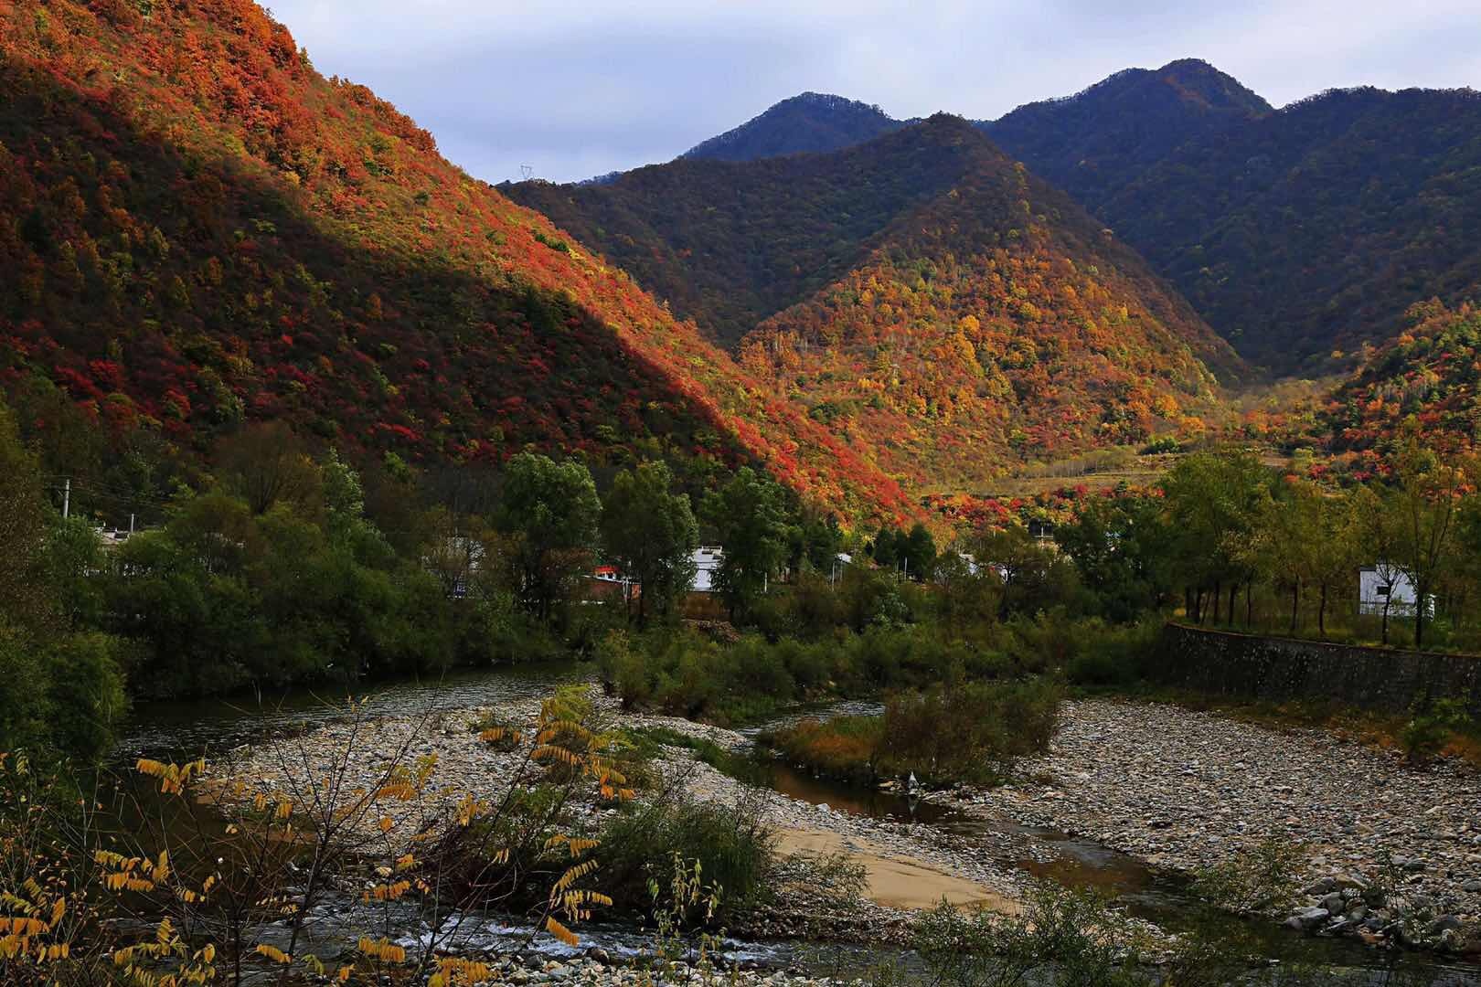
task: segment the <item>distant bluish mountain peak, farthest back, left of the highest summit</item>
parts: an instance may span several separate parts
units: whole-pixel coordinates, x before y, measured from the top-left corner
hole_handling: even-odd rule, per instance
[[[684,158],[754,161],[757,158],[841,151],[905,126],[875,105],[804,92],[681,154]]]

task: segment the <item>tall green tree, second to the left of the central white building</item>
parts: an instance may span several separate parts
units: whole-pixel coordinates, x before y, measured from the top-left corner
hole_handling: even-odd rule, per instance
[[[520,453],[505,466],[495,525],[514,536],[520,599],[549,620],[595,558],[601,500],[585,463]]]

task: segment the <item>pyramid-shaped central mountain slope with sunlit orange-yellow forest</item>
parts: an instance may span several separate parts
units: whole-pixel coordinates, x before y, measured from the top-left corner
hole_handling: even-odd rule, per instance
[[[1234,380],[1238,360],[1134,252],[964,120],[883,141],[906,135],[954,148],[961,170],[746,337],[743,363],[778,394],[948,487],[1219,411],[1210,367]]]

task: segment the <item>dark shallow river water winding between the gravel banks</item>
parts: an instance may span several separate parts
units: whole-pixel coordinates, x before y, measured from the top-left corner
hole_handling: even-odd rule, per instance
[[[120,762],[141,756],[164,759],[210,758],[241,744],[310,730],[317,724],[344,716],[352,698],[370,713],[424,715],[469,706],[548,695],[558,685],[591,679],[589,666],[539,664],[505,666],[477,672],[455,672],[437,679],[401,681],[357,687],[351,694],[341,688],[290,690],[274,694],[238,695],[234,698],[191,700],[181,703],[150,703],[133,710],[117,747]],[[877,709],[877,707],[874,707]],[[844,703],[807,715],[826,716],[829,712],[871,712],[868,704]],[[782,722],[798,715],[780,718]],[[775,724],[769,724],[775,725]],[[760,727],[742,732],[758,732]],[[903,795],[880,792],[866,786],[852,786],[815,778],[786,765],[776,764],[769,772],[770,786],[813,805],[875,818],[896,818],[937,827],[946,835],[983,845],[1028,845],[1031,849],[1003,863],[1038,877],[1066,886],[1093,888],[1115,900],[1126,912],[1148,919],[1171,931],[1186,931],[1207,920],[1204,909],[1177,875],[1148,867],[1142,861],[1094,841],[1071,836],[1052,829],[1020,826],[1009,820],[985,818],[976,814],[909,799]],[[1009,836],[1013,839],[1004,841]],[[1420,984],[1451,987],[1481,984],[1481,968],[1441,963],[1429,957],[1380,953],[1351,940],[1302,937],[1269,922],[1243,922],[1241,932],[1259,943],[1260,951],[1272,962],[1306,962],[1330,966],[1331,983],[1343,984]],[[532,949],[551,957],[570,954],[569,947],[533,937],[520,922],[502,917],[477,917],[468,922],[468,944],[481,949]],[[406,944],[416,932],[407,928]],[[631,956],[644,949],[647,937],[616,923],[582,928],[582,949],[600,946],[613,956]],[[758,962],[801,968],[815,974],[865,974],[880,962],[912,966],[909,953],[860,947],[819,947],[795,943],[726,943],[726,956],[735,962]]]

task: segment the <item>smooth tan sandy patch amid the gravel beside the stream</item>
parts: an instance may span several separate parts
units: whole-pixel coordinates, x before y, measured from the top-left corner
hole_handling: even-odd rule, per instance
[[[1019,910],[1017,904],[986,885],[943,873],[914,857],[892,854],[859,836],[783,829],[778,832],[778,846],[789,854],[847,854],[853,863],[863,864],[865,897],[892,909],[933,909],[945,898],[948,904],[986,906],[1004,914]]]

